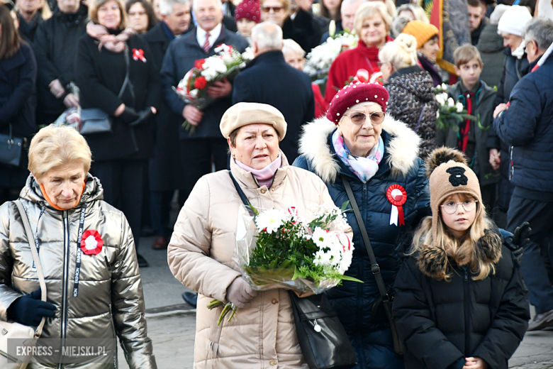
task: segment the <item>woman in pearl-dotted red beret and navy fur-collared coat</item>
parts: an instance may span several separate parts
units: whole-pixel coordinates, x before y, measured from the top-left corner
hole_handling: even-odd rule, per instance
[[[406,233],[430,215],[430,194],[418,158],[420,137],[385,114],[388,97],[379,84],[350,84],[335,93],[326,117],[304,126],[301,156],[294,166],[318,175],[337,206],[348,201],[342,176],[350,183],[384,283],[393,287],[401,244]],[[364,283],[344,281],[327,292],[328,298],[350,336],[358,369],[403,368],[352,211],[347,222],[355,249],[346,274]]]

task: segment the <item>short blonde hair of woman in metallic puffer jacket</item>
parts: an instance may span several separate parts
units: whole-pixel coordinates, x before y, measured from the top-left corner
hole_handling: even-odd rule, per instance
[[[89,144],[74,128],[50,124],[30,141],[28,169],[37,180],[54,167],[73,163],[90,170],[92,153]]]

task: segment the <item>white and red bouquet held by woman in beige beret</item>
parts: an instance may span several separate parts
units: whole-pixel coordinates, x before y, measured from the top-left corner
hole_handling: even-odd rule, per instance
[[[362,282],[344,275],[353,255],[345,206],[347,203],[342,209],[325,204],[310,206],[313,220],[309,222],[294,206],[288,211],[261,212],[242,206],[234,255],[242,276],[258,291],[286,288],[315,294],[342,280]],[[208,307],[222,304],[213,300]],[[236,307],[228,303],[223,312],[231,310]]]

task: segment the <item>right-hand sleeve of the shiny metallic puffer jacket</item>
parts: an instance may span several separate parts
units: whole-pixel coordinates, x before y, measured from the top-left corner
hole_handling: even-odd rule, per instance
[[[147,336],[135,241],[123,214],[119,247],[111,275],[111,303],[117,335],[130,369],[157,369],[152,340]]]

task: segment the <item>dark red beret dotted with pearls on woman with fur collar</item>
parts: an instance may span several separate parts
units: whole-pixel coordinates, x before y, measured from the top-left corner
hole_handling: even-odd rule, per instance
[[[326,118],[337,124],[344,113],[355,104],[362,102],[376,102],[382,106],[382,111],[386,113],[388,105],[388,92],[384,87],[377,83],[350,83],[340,91],[336,92],[333,101],[330,101]]]

